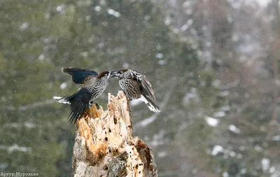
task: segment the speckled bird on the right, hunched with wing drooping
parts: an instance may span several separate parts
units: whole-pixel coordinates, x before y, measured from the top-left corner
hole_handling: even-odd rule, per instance
[[[151,83],[144,74],[132,69],[120,69],[111,71],[111,78],[118,78],[122,90],[128,99],[138,99],[144,101],[153,112],[160,112],[160,108],[155,105],[155,94]]]

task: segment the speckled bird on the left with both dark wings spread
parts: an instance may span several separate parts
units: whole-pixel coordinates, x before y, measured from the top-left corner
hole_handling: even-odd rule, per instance
[[[62,104],[70,104],[69,122],[76,122],[106,89],[111,72],[97,73],[87,69],[62,68],[62,72],[72,76],[73,83],[82,85],[78,92],[67,97],[53,97]]]

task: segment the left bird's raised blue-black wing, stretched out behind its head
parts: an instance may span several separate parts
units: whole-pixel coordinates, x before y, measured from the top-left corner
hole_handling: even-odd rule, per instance
[[[78,68],[62,68],[62,72],[68,73],[72,76],[73,83],[83,84],[87,76],[97,76],[98,73],[95,71],[90,71],[87,69],[78,69]]]

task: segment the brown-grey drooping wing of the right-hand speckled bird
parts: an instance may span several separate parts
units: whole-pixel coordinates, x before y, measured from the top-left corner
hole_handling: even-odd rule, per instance
[[[144,74],[139,74],[138,72],[133,72],[132,78],[137,79],[141,83],[141,93],[150,97],[151,101],[155,101],[155,94],[152,89],[151,83],[148,81]]]

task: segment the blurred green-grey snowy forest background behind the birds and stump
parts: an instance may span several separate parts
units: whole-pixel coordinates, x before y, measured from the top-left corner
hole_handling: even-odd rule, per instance
[[[130,68],[162,112],[131,104],[159,176],[280,176],[279,0],[0,1],[0,171],[72,176],[61,72]],[[112,80],[97,101],[116,94]]]

